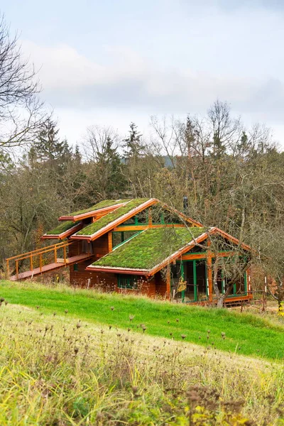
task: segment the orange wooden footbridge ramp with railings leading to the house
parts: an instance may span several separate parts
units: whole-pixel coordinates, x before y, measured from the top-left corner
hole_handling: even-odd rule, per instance
[[[43,249],[38,249],[34,251],[29,251],[28,253],[22,253],[17,256],[6,259],[7,271],[13,270],[16,271],[15,275],[10,277],[11,281],[25,280],[26,278],[33,278],[36,275],[41,275],[43,273],[48,273],[50,271],[55,271],[59,268],[65,268],[70,266],[73,263],[80,263],[92,257],[90,253],[81,253],[77,256],[67,257],[67,248],[74,244],[73,242],[61,242],[58,244],[53,244],[52,246],[44,247]],[[59,253],[62,253],[62,257],[58,257]],[[46,264],[45,254],[53,257],[53,262]],[[37,267],[34,268],[35,258],[37,260]],[[29,259],[30,269],[28,271],[19,272],[19,262],[26,261]]]

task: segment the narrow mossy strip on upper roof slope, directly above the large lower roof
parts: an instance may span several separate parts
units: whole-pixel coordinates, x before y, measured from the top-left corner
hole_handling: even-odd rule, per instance
[[[104,226],[107,226],[108,224],[110,224],[114,220],[119,219],[119,217],[123,216],[126,213],[129,213],[132,209],[135,209],[135,207],[138,207],[140,204],[143,204],[143,202],[146,202],[148,200],[150,200],[150,199],[149,198],[135,198],[133,200],[130,200],[124,206],[121,206],[118,209],[114,210],[114,212],[110,212],[110,213],[106,214],[104,217],[101,217],[100,219],[98,219],[93,224],[89,224],[84,229],[81,229],[81,231],[77,232],[76,235],[91,236],[95,232],[104,228]]]

